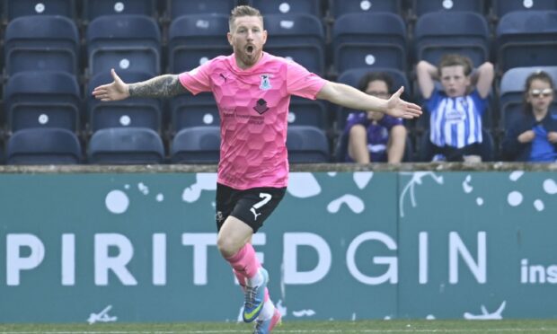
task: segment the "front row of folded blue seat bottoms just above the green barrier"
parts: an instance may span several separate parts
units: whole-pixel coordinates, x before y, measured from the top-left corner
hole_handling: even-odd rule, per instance
[[[290,163],[329,163],[331,152],[316,127],[289,127]],[[1,140],[0,140],[1,143]],[[218,163],[219,127],[188,127],[173,137],[168,154],[155,131],[145,127],[112,127],[96,131],[86,147],[69,130],[34,127],[19,130],[0,145],[0,162],[7,164],[160,164]]]

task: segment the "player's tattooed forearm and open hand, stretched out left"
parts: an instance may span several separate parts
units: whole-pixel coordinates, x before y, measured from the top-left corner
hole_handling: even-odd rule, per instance
[[[147,81],[126,84],[111,70],[114,81],[111,84],[103,84],[93,90],[93,96],[101,101],[119,101],[128,97],[172,97],[184,92],[186,89],[181,85],[178,75],[159,75]]]

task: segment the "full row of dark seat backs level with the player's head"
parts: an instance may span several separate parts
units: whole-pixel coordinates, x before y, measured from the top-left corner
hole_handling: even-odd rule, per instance
[[[319,75],[327,75],[323,24],[309,14],[270,14],[266,49],[290,57]],[[508,13],[491,31],[485,18],[472,12],[427,13],[408,40],[405,22],[393,13],[349,13],[332,25],[332,68],[387,67],[411,70],[417,59],[437,64],[446,53],[470,57],[475,66],[491,59],[500,72],[517,66],[557,66],[557,11]],[[84,32],[86,73],[81,37],[75,22],[63,16],[28,15],[10,21],[4,33],[4,75],[54,69],[87,77],[110,68],[151,75],[179,73],[231,48],[225,39],[225,14],[189,14],[172,20],[167,36],[157,22],[140,14],[103,15]],[[163,57],[162,40],[167,40]],[[491,46],[493,44],[493,46]]]

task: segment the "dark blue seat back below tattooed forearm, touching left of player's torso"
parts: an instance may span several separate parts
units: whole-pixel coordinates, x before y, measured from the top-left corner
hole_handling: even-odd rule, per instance
[[[210,92],[198,95],[181,94],[170,101],[170,132],[176,134],[186,127],[219,126],[217,102]]]

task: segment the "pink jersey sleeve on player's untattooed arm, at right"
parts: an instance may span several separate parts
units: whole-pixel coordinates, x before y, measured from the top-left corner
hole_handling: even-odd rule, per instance
[[[326,80],[293,61],[287,62],[287,92],[305,99],[315,100]]]

